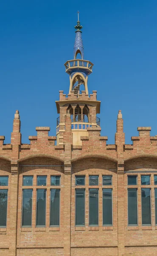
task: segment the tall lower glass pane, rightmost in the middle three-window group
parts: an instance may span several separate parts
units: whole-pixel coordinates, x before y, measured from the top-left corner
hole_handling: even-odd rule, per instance
[[[112,189],[103,189],[103,225],[112,225]]]

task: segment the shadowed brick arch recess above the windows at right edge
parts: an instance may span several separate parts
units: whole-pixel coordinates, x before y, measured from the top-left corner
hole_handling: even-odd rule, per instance
[[[157,155],[140,154],[124,160],[124,171],[129,170],[157,170]]]

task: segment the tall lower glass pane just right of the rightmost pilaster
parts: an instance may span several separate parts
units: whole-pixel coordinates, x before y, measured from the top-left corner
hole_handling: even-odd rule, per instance
[[[137,189],[128,189],[128,225],[137,225]]]

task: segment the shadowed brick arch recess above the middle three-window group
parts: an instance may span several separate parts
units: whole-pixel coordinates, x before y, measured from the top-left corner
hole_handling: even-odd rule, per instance
[[[117,173],[117,160],[101,155],[89,155],[72,160],[72,173]]]

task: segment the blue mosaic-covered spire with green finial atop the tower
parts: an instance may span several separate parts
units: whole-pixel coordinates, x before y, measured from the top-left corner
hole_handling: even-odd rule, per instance
[[[78,12],[78,21],[77,21],[77,25],[75,26],[76,37],[75,37],[75,44],[74,44],[74,49],[73,49],[73,59],[76,58],[76,55],[78,52],[81,54],[82,59],[84,59],[84,46],[83,46],[83,41],[82,41],[82,36],[81,36],[82,28],[83,28],[83,26],[80,25],[79,12]]]

